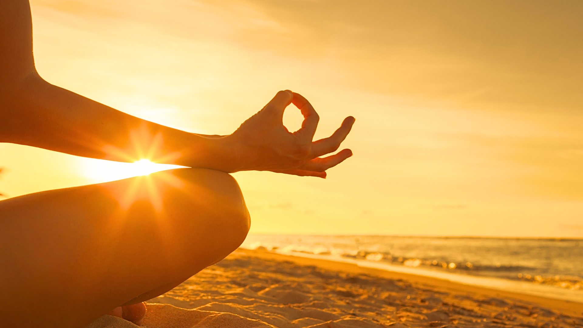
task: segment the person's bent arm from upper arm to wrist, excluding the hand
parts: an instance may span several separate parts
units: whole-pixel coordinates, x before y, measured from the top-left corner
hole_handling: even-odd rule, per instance
[[[0,142],[122,162],[149,156],[197,167],[213,166],[209,155],[223,146],[44,81],[34,68],[27,0],[0,2]]]

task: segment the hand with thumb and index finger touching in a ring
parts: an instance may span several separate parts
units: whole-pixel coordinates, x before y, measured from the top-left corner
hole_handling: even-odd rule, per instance
[[[293,103],[304,121],[300,130],[289,132],[283,125],[283,111]],[[303,96],[290,90],[280,91],[271,102],[250,117],[233,134],[225,137],[236,145],[234,162],[240,170],[267,170],[297,176],[326,177],[326,170],[352,156],[350,149],[335,152],[354,124],[354,117],[344,119],[330,137],[312,141],[319,116]]]

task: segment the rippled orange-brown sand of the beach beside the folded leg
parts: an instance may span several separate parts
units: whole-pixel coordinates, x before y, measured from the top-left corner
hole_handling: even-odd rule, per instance
[[[583,304],[238,249],[147,302],[148,328],[582,327]],[[86,328],[138,327],[103,316]]]

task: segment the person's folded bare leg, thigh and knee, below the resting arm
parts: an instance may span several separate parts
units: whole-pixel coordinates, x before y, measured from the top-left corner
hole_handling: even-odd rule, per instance
[[[208,169],[0,201],[2,324],[83,327],[222,259],[249,225],[237,182]]]

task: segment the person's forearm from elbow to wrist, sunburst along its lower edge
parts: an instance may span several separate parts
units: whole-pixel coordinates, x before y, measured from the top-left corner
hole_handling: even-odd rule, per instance
[[[209,138],[142,120],[37,74],[0,85],[0,141],[90,158],[221,169],[224,138]],[[227,170],[227,169],[224,169]]]

